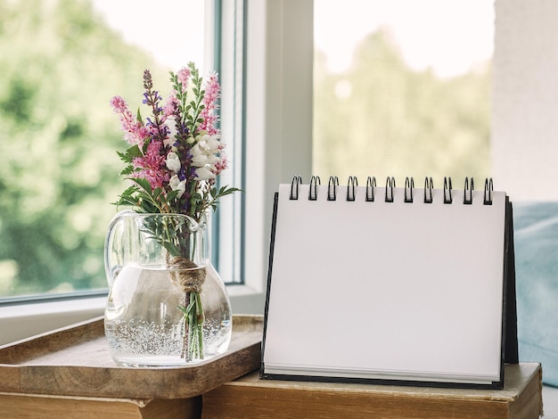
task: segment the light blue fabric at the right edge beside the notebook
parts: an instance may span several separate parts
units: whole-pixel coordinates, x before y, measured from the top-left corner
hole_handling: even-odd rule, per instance
[[[558,386],[558,202],[513,203],[520,361]]]

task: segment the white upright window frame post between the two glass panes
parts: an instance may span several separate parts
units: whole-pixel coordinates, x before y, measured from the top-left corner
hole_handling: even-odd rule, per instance
[[[245,247],[234,312],[262,313],[274,194],[312,166],[312,1],[248,0]],[[235,299],[237,297],[237,299]]]

